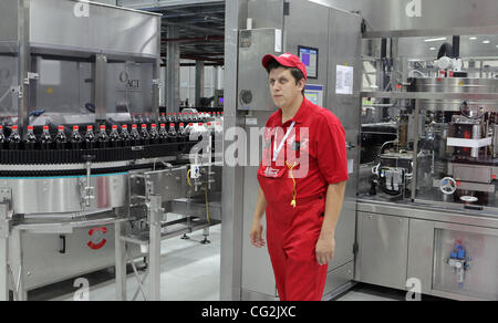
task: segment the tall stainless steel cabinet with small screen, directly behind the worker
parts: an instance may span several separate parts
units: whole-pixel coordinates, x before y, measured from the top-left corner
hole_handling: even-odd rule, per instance
[[[248,19],[252,22],[249,30]],[[248,163],[224,169],[222,239],[232,243],[221,246],[222,300],[277,299],[268,250],[252,247],[248,238],[259,188],[256,170],[261,160],[261,147],[252,145],[255,137],[249,134],[264,127],[274,112],[268,75],[261,67],[261,59],[267,53],[309,55],[311,77],[307,96],[331,110],[346,131],[344,144],[349,147],[351,179],[324,298],[349,286],[353,279],[361,21],[356,14],[310,1],[227,1],[226,52],[237,55],[235,61],[226,58],[225,125],[241,127],[248,134],[248,146],[259,148],[239,147],[242,152],[247,149]],[[344,82],[347,77],[349,83]],[[228,140],[227,145],[234,142]]]

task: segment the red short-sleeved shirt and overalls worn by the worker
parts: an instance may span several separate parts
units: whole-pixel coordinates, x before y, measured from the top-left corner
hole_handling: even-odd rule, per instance
[[[286,148],[278,152],[292,123]],[[277,132],[277,144],[276,128],[281,128],[280,134]],[[303,128],[308,128],[308,137],[301,135],[305,134]],[[330,111],[304,98],[297,115],[286,124],[282,124],[281,110],[269,118],[264,139],[258,180],[267,200],[268,251],[279,298],[320,301],[328,265],[317,262],[315,246],[324,219],[328,187],[347,180],[344,128]],[[289,154],[293,150],[297,154]],[[277,160],[272,158],[274,153],[278,153]],[[299,163],[294,165],[294,162]],[[294,178],[301,168],[308,171]]]

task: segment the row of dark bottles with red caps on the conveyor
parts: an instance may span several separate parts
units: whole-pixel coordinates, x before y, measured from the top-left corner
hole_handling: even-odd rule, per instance
[[[203,126],[201,123],[198,124]],[[210,125],[210,123],[208,124]],[[121,128],[121,129],[120,129]],[[95,148],[117,148],[128,146],[145,146],[157,145],[166,143],[186,143],[190,139],[190,132],[194,128],[193,123],[185,126],[180,123],[176,127],[175,123],[160,124],[157,128],[156,124],[142,124],[138,129],[137,124],[132,124],[128,131],[128,125],[121,126],[113,125],[108,133],[105,125],[101,125],[98,132],[94,132],[92,125],[86,126],[86,132],[82,134],[79,126],[73,126],[72,134],[65,134],[64,126],[58,127],[58,133],[53,137],[50,134],[49,126],[43,126],[43,132],[37,137],[33,126],[28,127],[28,133],[22,139],[19,135],[17,125],[11,127],[11,134],[6,137],[3,126],[0,126],[0,149],[10,150],[49,150],[49,149],[95,149]],[[207,132],[207,129],[206,129]]]

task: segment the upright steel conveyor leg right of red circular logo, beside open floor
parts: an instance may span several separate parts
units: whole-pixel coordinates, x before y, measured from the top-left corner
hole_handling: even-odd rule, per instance
[[[163,220],[162,196],[149,197],[149,300],[160,300],[160,221]]]

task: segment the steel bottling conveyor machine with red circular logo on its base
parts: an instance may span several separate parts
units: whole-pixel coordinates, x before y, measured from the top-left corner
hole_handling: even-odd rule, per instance
[[[54,135],[56,126],[62,133],[76,125],[121,132],[167,122],[178,131],[180,122],[194,123],[158,116],[160,15],[71,0],[6,0],[0,7],[7,136],[15,126],[24,138],[28,126],[37,135],[48,126]],[[190,136],[129,145],[28,149],[12,137],[2,142],[0,299],[11,290],[14,300],[27,300],[29,290],[113,265],[117,298],[126,299],[132,263],[142,294],[158,300],[160,240],[204,229],[208,242],[209,226],[220,220],[211,133],[219,134],[221,122],[199,118]],[[184,216],[168,222],[168,211]],[[148,294],[137,257],[148,260]]]

